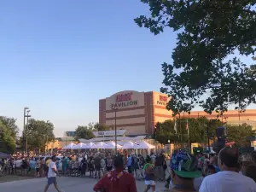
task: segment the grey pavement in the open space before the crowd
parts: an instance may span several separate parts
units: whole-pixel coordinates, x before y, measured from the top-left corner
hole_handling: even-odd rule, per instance
[[[63,192],[93,192],[97,180],[89,177],[57,177],[59,188]],[[44,192],[46,178],[33,178],[20,181],[0,183],[1,192]],[[143,181],[137,181],[137,192],[145,188]],[[164,183],[156,183],[157,191],[164,189]],[[54,186],[49,186],[48,192],[56,191]],[[150,190],[151,191],[151,190]]]

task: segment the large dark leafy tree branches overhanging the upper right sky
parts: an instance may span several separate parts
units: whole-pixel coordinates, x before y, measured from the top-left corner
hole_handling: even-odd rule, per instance
[[[148,4],[151,15],[137,17],[138,26],[154,35],[166,27],[177,32],[173,62],[162,64],[165,86],[160,89],[172,97],[167,109],[173,115],[189,113],[196,105],[222,114],[230,104],[245,109],[256,103],[256,65],[232,58],[255,54],[254,0],[141,2]]]

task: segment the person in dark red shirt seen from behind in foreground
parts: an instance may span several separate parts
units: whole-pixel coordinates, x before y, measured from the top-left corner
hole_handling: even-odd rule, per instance
[[[137,192],[135,178],[123,171],[124,161],[120,155],[114,157],[113,166],[114,170],[102,177],[93,190],[96,192]]]

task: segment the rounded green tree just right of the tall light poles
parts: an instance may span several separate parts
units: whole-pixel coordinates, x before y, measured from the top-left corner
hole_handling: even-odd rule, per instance
[[[55,140],[54,125],[49,121],[29,119],[25,138],[29,149],[44,150],[46,143]],[[24,141],[26,142],[26,141]]]

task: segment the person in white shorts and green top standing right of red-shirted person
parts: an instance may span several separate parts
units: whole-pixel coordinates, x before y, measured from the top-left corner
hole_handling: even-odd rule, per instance
[[[144,192],[148,192],[150,188],[152,188],[152,191],[155,191],[155,182],[154,182],[154,164],[152,164],[151,158],[147,156],[146,158],[146,164],[143,167],[144,175],[145,175],[145,184],[146,189]]]

